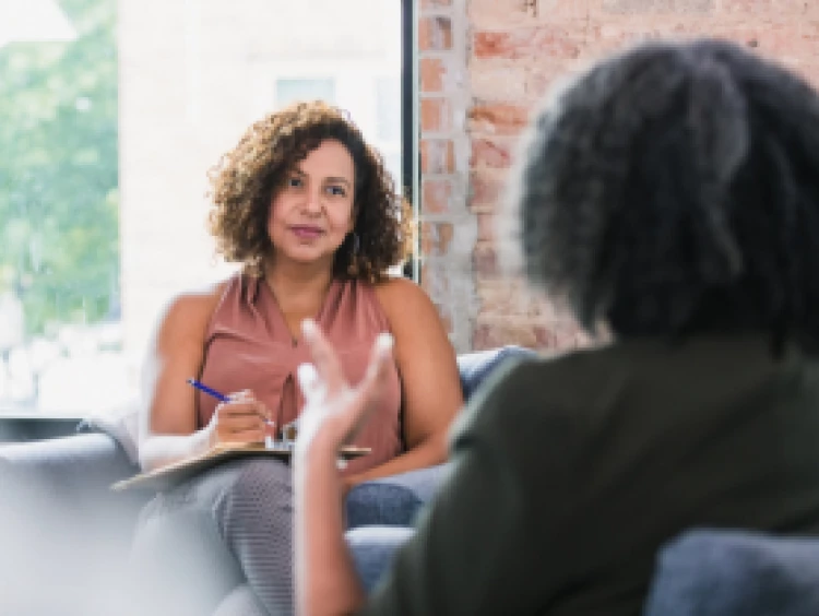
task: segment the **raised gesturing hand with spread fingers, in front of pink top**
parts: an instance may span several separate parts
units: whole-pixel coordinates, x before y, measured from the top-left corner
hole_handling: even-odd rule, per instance
[[[351,387],[339,357],[316,323],[306,320],[301,330],[313,363],[298,368],[306,404],[299,418],[296,453],[304,455],[318,449],[335,454],[355,437],[376,406],[388,375],[392,336],[380,334],[376,339],[364,379]]]

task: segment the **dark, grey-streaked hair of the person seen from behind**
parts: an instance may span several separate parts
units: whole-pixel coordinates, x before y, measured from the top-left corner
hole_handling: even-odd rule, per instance
[[[719,40],[651,43],[559,91],[515,205],[531,282],[589,331],[819,341],[819,97]]]

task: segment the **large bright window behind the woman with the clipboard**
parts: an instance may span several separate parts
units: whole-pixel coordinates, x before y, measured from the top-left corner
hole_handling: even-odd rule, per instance
[[[164,305],[235,270],[206,171],[263,114],[347,109],[401,185],[402,32],[401,0],[0,0],[0,416],[138,399]]]

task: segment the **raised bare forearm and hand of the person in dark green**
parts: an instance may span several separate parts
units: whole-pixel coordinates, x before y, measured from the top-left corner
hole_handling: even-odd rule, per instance
[[[392,339],[379,337],[365,378],[351,388],[316,324],[306,321],[302,329],[316,367],[301,366],[298,372],[306,406],[294,453],[297,613],[340,616],[360,606],[364,592],[344,542],[336,455],[378,400]]]

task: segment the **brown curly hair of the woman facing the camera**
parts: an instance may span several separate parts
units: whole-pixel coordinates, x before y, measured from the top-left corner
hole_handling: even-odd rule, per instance
[[[210,229],[216,250],[245,271],[261,275],[273,248],[268,233],[270,203],[297,163],[333,139],[355,166],[354,230],[339,248],[334,275],[371,283],[405,256],[410,215],[382,156],[364,140],[346,112],[327,103],[296,103],[253,123],[209,173],[213,206]]]

